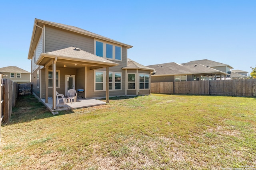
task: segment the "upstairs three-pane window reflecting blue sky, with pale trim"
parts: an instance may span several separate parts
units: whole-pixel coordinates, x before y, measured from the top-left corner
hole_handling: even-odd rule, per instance
[[[95,55],[112,60],[122,60],[121,46],[95,40]]]

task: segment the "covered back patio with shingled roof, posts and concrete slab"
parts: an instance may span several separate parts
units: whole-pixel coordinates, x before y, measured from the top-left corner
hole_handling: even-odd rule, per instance
[[[108,103],[109,67],[119,65],[118,63],[114,63],[102,57],[98,57],[96,55],[93,55],[91,53],[88,53],[76,47],[68,47],[65,49],[57,50],[57,51],[41,53],[41,55],[36,60],[36,64],[41,66],[40,69],[42,70],[42,72],[44,72],[44,75],[45,75],[45,80],[44,80],[45,85],[42,84],[42,87],[40,90],[41,94],[44,94],[44,96],[40,96],[40,100],[46,105],[46,107],[50,111],[74,109],[74,108],[81,108],[81,107],[91,107],[91,106],[98,106],[101,104]],[[56,74],[56,68],[59,68],[62,72],[65,72],[65,74],[68,74],[70,76],[72,76],[71,74],[76,74],[77,82],[80,84],[80,87],[84,89],[84,93],[85,93],[84,98],[86,98],[86,100],[84,99],[77,100],[77,102],[73,102],[72,104],[63,104],[62,102],[62,104],[57,105],[56,91],[58,90],[60,94],[65,94],[64,88],[66,88],[65,87],[66,78],[62,78],[59,81],[57,79],[59,75]],[[68,72],[67,68],[70,72]],[[90,75],[93,75],[92,71],[98,68],[106,69],[106,85],[107,85],[106,102],[102,102],[100,100],[94,100],[94,99],[88,100],[87,99],[88,97],[86,96],[88,92],[87,87],[89,86],[89,85],[87,86],[87,82],[94,81],[93,76],[90,76]],[[67,71],[64,71],[64,69]],[[49,88],[49,79],[50,79],[49,78],[50,76],[48,76],[49,70],[52,70],[51,71],[52,72],[52,77],[51,77],[52,88]],[[73,70],[73,73],[71,73],[72,70]],[[90,76],[90,80],[87,80],[88,76]],[[56,89],[56,86],[59,86],[58,89]],[[73,86],[73,89],[75,89],[74,86]],[[50,94],[50,91],[52,91],[51,94]],[[65,96],[67,96],[67,94]]]

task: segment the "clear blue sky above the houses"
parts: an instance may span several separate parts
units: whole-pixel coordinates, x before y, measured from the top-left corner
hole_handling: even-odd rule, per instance
[[[256,66],[255,0],[10,0],[0,2],[0,16],[0,67],[31,70],[35,18],[132,45],[128,57],[143,65],[209,59],[249,73]]]

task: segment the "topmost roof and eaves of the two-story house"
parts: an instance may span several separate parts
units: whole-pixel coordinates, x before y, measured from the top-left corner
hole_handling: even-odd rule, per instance
[[[31,41],[30,41],[30,48],[29,48],[29,52],[28,52],[28,59],[32,59],[32,54],[34,52],[34,48],[36,47],[36,44],[33,44],[34,37],[38,38],[40,36],[41,32],[42,32],[41,28],[39,28],[39,31],[37,31],[38,27],[35,24],[39,25],[40,27],[43,27],[43,25],[46,24],[46,25],[51,25],[51,26],[58,27],[58,28],[61,28],[61,29],[66,29],[66,30],[69,30],[69,31],[73,31],[73,32],[76,32],[76,33],[80,33],[80,34],[83,34],[83,35],[87,35],[87,36],[90,36],[90,37],[101,39],[101,40],[104,40],[104,41],[109,41],[109,42],[112,42],[112,43],[116,43],[118,45],[126,46],[128,49],[133,47],[132,45],[121,43],[119,41],[115,41],[114,39],[110,39],[108,37],[104,37],[102,35],[98,35],[96,33],[92,33],[90,31],[86,31],[86,30],[78,28],[78,27],[65,25],[65,24],[62,24],[62,23],[51,22],[51,21],[39,20],[39,19],[35,18],[34,28],[33,28],[33,32],[32,32]],[[38,35],[36,35],[36,33]]]

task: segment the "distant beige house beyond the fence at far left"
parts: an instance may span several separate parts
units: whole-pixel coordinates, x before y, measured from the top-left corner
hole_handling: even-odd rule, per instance
[[[7,79],[10,79],[16,83],[28,83],[30,82],[30,72],[23,70],[17,66],[8,66],[0,68],[0,72],[6,74]]]

